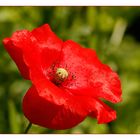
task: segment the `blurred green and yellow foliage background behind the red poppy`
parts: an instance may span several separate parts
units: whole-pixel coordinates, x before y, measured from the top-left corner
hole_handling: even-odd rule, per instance
[[[68,130],[33,125],[29,133],[140,133],[140,7],[0,7],[0,133],[23,133],[28,124],[21,110],[30,87],[5,51],[2,40],[21,29],[49,23],[63,40],[72,39],[96,50],[120,75],[123,101],[111,104],[117,120],[95,119]]]

